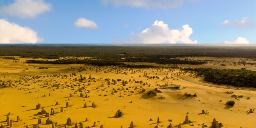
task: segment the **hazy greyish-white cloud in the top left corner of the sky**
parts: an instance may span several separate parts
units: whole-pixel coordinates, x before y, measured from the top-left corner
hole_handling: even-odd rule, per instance
[[[2,6],[1,13],[20,18],[34,18],[51,11],[51,8],[52,5],[44,0],[15,0],[12,4]]]

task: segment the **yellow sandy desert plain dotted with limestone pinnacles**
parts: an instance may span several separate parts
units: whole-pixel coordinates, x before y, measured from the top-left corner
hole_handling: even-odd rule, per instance
[[[213,128],[214,118],[225,128],[256,127],[255,112],[249,112],[256,107],[255,88],[212,84],[194,73],[172,68],[34,64],[24,63],[33,58],[14,57],[20,61],[0,59],[1,84],[4,81],[7,85],[0,88],[0,125],[4,127],[10,127],[8,113],[13,127],[20,128],[35,124],[40,128],[64,128],[68,118],[72,121],[69,128],[94,127],[94,122],[96,128],[129,128],[131,122],[136,128],[166,128],[170,123],[172,127]],[[207,59],[212,63],[178,66],[256,69],[255,65],[227,64],[228,60],[245,58]],[[226,105],[230,100],[236,102],[234,106]],[[42,110],[49,115],[41,114]],[[117,110],[121,117],[115,117]],[[47,123],[48,118],[56,126]]]

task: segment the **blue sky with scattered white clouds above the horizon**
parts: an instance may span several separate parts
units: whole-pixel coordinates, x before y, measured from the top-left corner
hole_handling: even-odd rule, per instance
[[[256,43],[255,0],[2,0],[0,4],[1,44]]]

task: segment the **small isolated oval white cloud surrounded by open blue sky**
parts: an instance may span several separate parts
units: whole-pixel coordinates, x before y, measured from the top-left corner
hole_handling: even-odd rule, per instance
[[[95,22],[93,22],[92,20],[87,20],[85,18],[77,19],[74,25],[78,28],[98,28],[98,25]]]

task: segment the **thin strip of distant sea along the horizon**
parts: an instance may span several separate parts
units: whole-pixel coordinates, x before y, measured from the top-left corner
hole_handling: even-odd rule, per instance
[[[0,46],[255,46],[256,44],[0,44]]]

